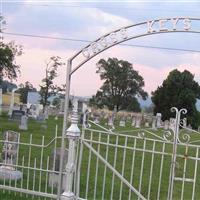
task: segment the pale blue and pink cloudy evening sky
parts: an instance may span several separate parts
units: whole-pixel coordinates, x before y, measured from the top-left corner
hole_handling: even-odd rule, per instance
[[[0,0],[0,5],[1,14],[6,20],[6,25],[1,26],[4,41],[14,40],[16,44],[23,46],[23,55],[16,59],[21,65],[21,75],[14,83],[29,81],[37,88],[44,78],[45,63],[51,56],[60,56],[62,61],[67,63],[67,60],[88,45],[89,41],[94,41],[115,29],[160,18],[198,17],[200,13],[198,1]],[[200,21],[197,21],[196,24],[192,24],[191,29],[198,28],[198,22],[200,24]],[[116,45],[77,70],[72,75],[71,94],[95,94],[102,84],[99,75],[96,74],[96,63],[101,58],[109,57],[132,63],[133,69],[144,78],[144,90],[149,94],[162,84],[173,69],[189,70],[200,83],[200,34],[157,34],[125,43],[133,46]],[[59,68],[58,74],[55,83],[64,84],[66,65]]]

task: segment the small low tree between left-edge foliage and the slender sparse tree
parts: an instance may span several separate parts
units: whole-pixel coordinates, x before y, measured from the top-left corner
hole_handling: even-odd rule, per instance
[[[20,101],[22,103],[27,103],[28,92],[37,92],[37,89],[29,81],[26,81],[25,84],[21,83],[17,93],[20,94]]]

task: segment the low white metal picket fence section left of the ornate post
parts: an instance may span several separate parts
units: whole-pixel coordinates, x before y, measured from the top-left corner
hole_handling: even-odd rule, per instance
[[[13,140],[14,137],[16,140]],[[9,190],[56,199],[60,139],[57,129],[51,141],[45,141],[43,136],[41,143],[34,140],[32,135],[29,137],[29,142],[23,142],[20,134],[13,131],[5,132],[3,139],[0,140],[1,191]]]

